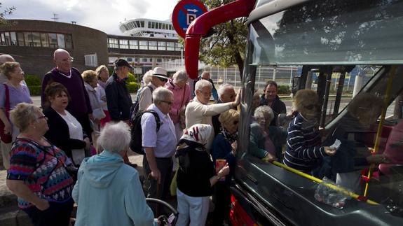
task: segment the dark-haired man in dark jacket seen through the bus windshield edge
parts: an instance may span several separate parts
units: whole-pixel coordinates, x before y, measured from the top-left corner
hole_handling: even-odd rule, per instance
[[[260,98],[260,106],[263,105],[267,105],[273,110],[274,118],[271,121],[271,125],[278,125],[278,116],[287,113],[284,102],[280,101],[277,95],[277,83],[275,81],[268,81],[266,83],[264,94],[262,94]],[[289,117],[291,117],[291,115],[289,115]]]

